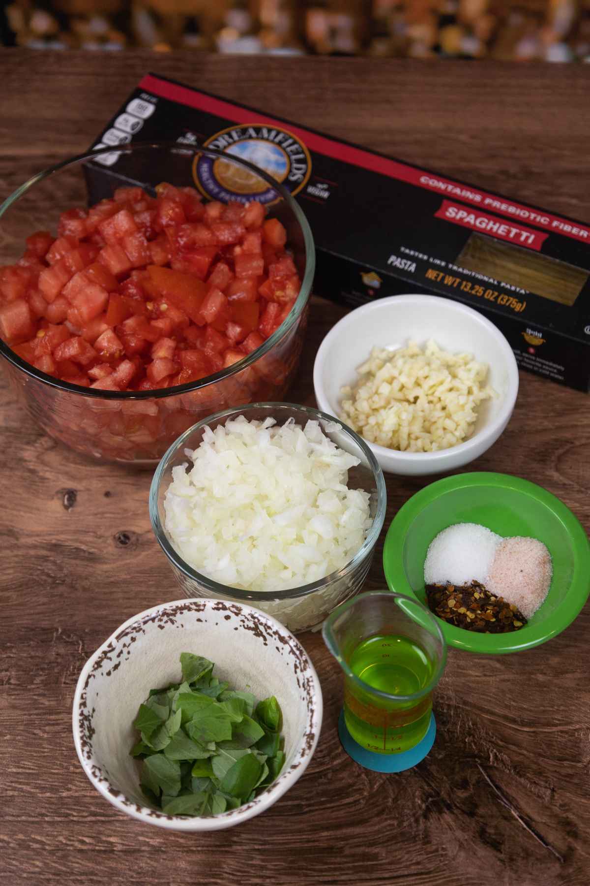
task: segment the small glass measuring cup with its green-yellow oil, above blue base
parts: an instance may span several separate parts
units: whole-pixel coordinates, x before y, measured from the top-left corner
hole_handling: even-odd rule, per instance
[[[436,618],[410,597],[369,591],[333,610],[322,633],[344,672],[349,735],[376,754],[415,748],[429,730],[447,660]]]

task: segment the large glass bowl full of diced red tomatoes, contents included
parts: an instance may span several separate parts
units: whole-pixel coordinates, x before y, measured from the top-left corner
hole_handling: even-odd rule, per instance
[[[197,190],[203,155],[235,167],[235,192]],[[1,362],[50,436],[152,464],[200,418],[284,397],[315,252],[264,170],[122,145],[35,175],[0,206],[0,231]]]

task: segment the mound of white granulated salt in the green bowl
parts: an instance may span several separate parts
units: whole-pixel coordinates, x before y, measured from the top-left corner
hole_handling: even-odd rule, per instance
[[[487,585],[502,536],[478,523],[456,523],[431,541],[424,564],[426,585]],[[506,597],[508,599],[508,597]]]

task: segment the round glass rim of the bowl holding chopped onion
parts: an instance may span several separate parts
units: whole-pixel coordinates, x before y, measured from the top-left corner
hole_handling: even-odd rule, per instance
[[[244,591],[240,587],[230,587],[229,585],[222,585],[214,579],[209,578],[206,575],[203,575],[202,572],[198,572],[193,569],[176,551],[175,548],[172,547],[172,544],[166,537],[165,528],[160,521],[160,517],[157,509],[157,494],[159,490],[159,486],[163,480],[165,467],[167,467],[167,462],[169,458],[172,458],[172,455],[180,450],[185,445],[185,441],[188,436],[193,433],[193,431],[202,428],[209,424],[212,421],[216,421],[219,418],[229,418],[232,416],[240,416],[248,412],[252,412],[254,410],[266,409],[269,413],[280,413],[282,410],[292,410],[296,409],[299,412],[306,413],[312,421],[325,421],[330,424],[334,422],[340,425],[341,430],[344,431],[349,438],[356,443],[361,451],[364,453],[367,461],[369,462],[369,466],[372,470],[372,475],[375,481],[375,486],[377,486],[377,507],[375,511],[375,517],[373,517],[371,529],[367,532],[367,536],[361,545],[360,548],[356,551],[355,556],[349,560],[348,563],[345,563],[340,570],[336,570],[330,572],[328,575],[324,576],[323,579],[318,579],[317,581],[312,581],[307,585],[300,585],[299,587],[292,587],[282,591]],[[276,415],[272,415],[272,417],[279,417]],[[176,569],[179,569],[188,579],[196,581],[199,585],[201,585],[208,594],[211,595],[221,595],[223,597],[230,596],[234,600],[244,601],[244,602],[274,602],[276,600],[298,600],[303,597],[306,597],[310,594],[313,594],[315,591],[321,590],[326,587],[326,585],[331,584],[333,581],[337,579],[343,579],[351,571],[356,569],[358,563],[361,563],[364,560],[364,557],[369,555],[372,551],[372,548],[375,547],[377,540],[379,539],[379,533],[381,532],[381,528],[385,521],[385,515],[387,511],[387,487],[385,483],[385,478],[383,476],[383,470],[372,453],[371,449],[366,440],[362,437],[359,437],[356,431],[353,431],[352,428],[349,428],[347,424],[341,422],[340,418],[335,418],[334,416],[328,415],[326,412],[320,412],[319,409],[314,409],[310,406],[301,406],[297,403],[285,403],[285,402],[261,402],[261,403],[247,403],[244,406],[234,406],[227,409],[223,409],[220,412],[216,412],[211,416],[207,416],[207,418],[203,418],[200,422],[193,424],[192,427],[188,428],[188,431],[184,431],[184,433],[180,434],[180,437],[175,439],[172,443],[172,446],[168,447],[165,454],[160,459],[157,469],[154,472],[154,476],[151,480],[151,485],[149,486],[149,519],[151,521],[151,526],[156,536],[157,542],[160,545],[160,548],[167,556],[172,566]]]

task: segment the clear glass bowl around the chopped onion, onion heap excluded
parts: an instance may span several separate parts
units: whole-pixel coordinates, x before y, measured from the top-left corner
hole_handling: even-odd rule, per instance
[[[172,469],[178,466],[192,468],[190,452],[203,441],[206,429],[215,431],[219,425],[237,419],[238,416],[251,422],[264,422],[272,418],[278,426],[289,420],[299,427],[309,421],[318,422],[319,428],[341,450],[358,460],[348,470],[347,486],[361,490],[368,503],[369,517],[364,531],[364,540],[348,562],[322,578],[303,583],[298,587],[272,587],[270,590],[246,590],[221,584],[187,563],[180,555],[172,540],[170,521],[166,527],[165,499],[172,483]],[[178,478],[178,471],[176,477]],[[223,483],[223,479],[220,479]],[[383,472],[371,449],[355,431],[342,424],[333,416],[305,406],[291,403],[252,403],[218,412],[203,419],[179,439],[165,453],[152,479],[149,492],[149,517],[157,541],[172,567],[180,590],[187,597],[208,597],[236,603],[247,602],[277,618],[291,631],[302,632],[321,625],[326,616],[339,603],[355,595],[363,587],[364,579],[372,562],[375,544],[383,526],[387,503],[387,493]],[[238,508],[236,507],[236,511]],[[280,584],[278,581],[277,584]],[[175,596],[176,592],[172,596]]]

